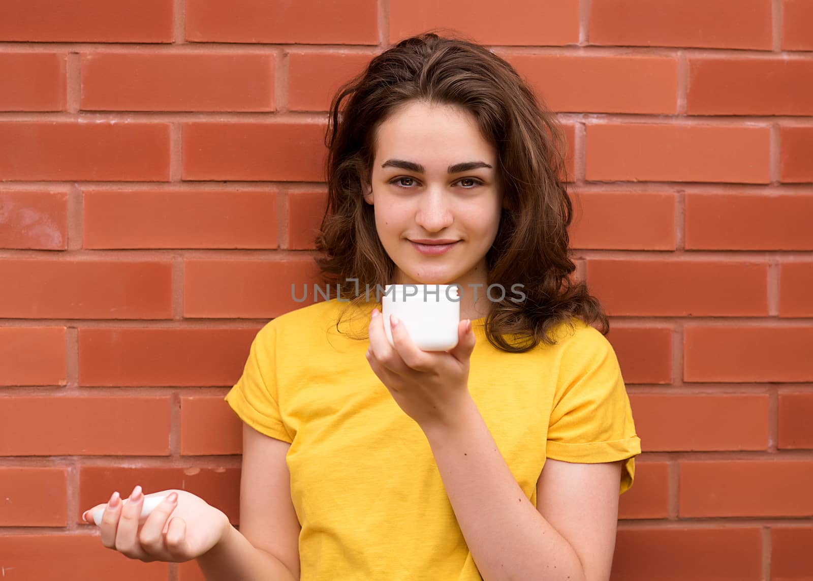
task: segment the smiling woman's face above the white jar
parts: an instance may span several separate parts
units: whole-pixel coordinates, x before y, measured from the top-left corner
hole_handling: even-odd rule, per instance
[[[419,101],[399,107],[378,128],[365,191],[395,263],[394,283],[456,282],[464,292],[468,283],[485,283],[502,192],[497,151],[472,113]]]

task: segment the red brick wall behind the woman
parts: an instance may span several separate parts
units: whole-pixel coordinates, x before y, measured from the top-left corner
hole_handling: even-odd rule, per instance
[[[567,129],[644,451],[613,579],[813,579],[808,0],[4,0],[4,577],[202,579],[80,515],[141,484],[239,522],[222,397],[315,280],[330,95],[435,27]]]

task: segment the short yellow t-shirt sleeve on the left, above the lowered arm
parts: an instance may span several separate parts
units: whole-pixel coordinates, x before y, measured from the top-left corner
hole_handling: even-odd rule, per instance
[[[276,377],[276,325],[270,321],[251,342],[243,374],[224,400],[254,430],[291,443],[280,413]]]

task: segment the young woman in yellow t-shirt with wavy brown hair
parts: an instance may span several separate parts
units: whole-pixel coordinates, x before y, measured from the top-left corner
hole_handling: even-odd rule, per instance
[[[267,323],[225,398],[240,531],[185,491],[139,521],[137,487],[102,544],[207,579],[609,579],[641,444],[606,316],[569,279],[554,116],[503,59],[430,33],[342,87],[328,146],[317,262],[340,293]],[[393,320],[391,346],[390,283],[458,284],[458,345],[421,351]]]

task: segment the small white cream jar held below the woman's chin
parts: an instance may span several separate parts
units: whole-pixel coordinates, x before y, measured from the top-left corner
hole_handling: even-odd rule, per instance
[[[458,343],[459,285],[386,285],[381,296],[384,330],[393,347],[389,316],[398,317],[415,346],[423,351],[448,351]]]

